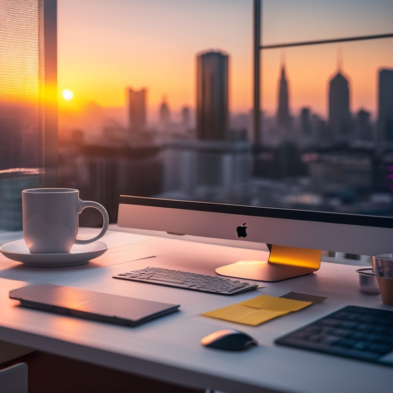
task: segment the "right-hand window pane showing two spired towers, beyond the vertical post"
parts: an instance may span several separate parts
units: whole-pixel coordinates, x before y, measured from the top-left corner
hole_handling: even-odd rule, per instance
[[[252,204],[391,215],[393,5],[263,5]]]

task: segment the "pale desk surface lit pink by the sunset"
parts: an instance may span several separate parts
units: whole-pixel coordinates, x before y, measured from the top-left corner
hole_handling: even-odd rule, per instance
[[[195,242],[187,237],[154,236],[112,227],[102,241],[108,251],[88,264],[33,268],[0,255],[0,339],[74,359],[188,386],[231,392],[390,391],[393,369],[331,355],[278,346],[274,339],[347,304],[392,309],[379,295],[359,291],[356,266],[321,264],[311,275],[261,282],[235,296],[116,280],[112,275],[144,266],[214,274],[216,267],[261,258],[265,251]],[[75,288],[180,303],[180,311],[136,328],[24,309],[8,293],[28,283],[50,282]],[[299,312],[248,326],[201,316],[206,311],[258,294],[295,291],[327,298]],[[233,327],[259,342],[244,352],[203,347],[200,340]],[[376,383],[378,381],[378,383]]]

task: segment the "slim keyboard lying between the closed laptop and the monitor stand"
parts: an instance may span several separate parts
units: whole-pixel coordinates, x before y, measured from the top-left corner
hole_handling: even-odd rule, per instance
[[[113,276],[113,278],[148,282],[151,284],[166,285],[168,287],[190,289],[220,295],[234,295],[239,292],[258,288],[258,283],[155,267],[147,267],[117,274]]]

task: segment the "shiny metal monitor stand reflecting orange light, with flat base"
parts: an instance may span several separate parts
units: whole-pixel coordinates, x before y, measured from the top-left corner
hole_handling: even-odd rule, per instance
[[[317,271],[322,252],[308,248],[268,245],[269,260],[239,260],[215,269],[217,274],[257,281],[280,281]]]

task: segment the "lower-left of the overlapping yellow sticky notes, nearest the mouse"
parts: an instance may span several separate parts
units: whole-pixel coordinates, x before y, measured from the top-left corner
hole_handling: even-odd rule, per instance
[[[207,313],[203,313],[202,315],[256,326],[260,323],[266,322],[284,314],[287,314],[287,312],[259,310],[238,303],[228,305],[227,307],[223,307],[221,309],[209,311]]]

